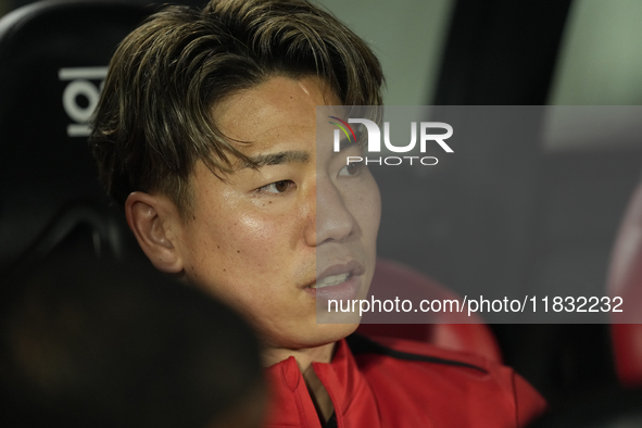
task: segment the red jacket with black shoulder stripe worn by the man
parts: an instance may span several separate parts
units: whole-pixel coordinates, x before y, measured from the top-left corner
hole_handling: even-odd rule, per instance
[[[338,428],[521,427],[546,405],[508,367],[406,340],[353,335],[337,343],[331,363],[313,367]],[[267,376],[268,427],[322,427],[294,357]]]

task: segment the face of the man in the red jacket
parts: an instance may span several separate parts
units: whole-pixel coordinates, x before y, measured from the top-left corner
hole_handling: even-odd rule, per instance
[[[375,268],[379,190],[367,168],[345,164],[360,148],[332,152],[331,125],[316,146],[316,106],[340,104],[323,88],[316,77],[273,77],[217,104],[216,124],[250,141],[239,148],[263,166],[224,182],[199,162],[193,216],[178,234],[187,279],[239,309],[275,348],[352,332],[316,324],[316,299],[365,298]]]

